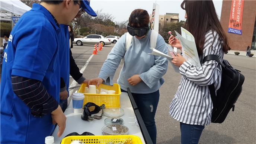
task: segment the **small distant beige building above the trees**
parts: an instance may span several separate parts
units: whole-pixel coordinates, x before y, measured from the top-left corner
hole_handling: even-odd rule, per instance
[[[179,13],[166,13],[165,15],[159,15],[159,23],[177,23],[179,22]]]

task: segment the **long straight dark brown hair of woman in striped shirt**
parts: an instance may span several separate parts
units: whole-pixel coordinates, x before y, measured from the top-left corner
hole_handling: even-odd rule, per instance
[[[230,50],[228,38],[217,17],[212,0],[184,0],[181,8],[186,10],[186,29],[195,37],[198,55],[203,53],[205,35],[209,30],[216,31],[223,41],[223,51]]]

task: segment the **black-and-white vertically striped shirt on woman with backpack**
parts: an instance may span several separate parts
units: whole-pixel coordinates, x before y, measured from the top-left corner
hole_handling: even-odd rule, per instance
[[[217,32],[209,31],[205,35],[203,54],[199,57],[201,63],[210,54],[217,55],[223,61],[222,43]],[[182,77],[170,104],[169,114],[185,124],[209,125],[213,105],[208,86],[214,83],[215,90],[220,88],[221,65],[210,60],[199,68],[185,61],[179,70]]]

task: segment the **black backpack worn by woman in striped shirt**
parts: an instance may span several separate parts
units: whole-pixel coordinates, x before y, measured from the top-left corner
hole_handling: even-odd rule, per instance
[[[242,92],[242,85],[244,83],[243,74],[241,71],[234,69],[227,60],[221,63],[217,55],[207,55],[204,57],[205,61],[215,60],[221,64],[222,75],[220,89],[215,95],[214,84],[209,86],[209,92],[213,103],[212,109],[212,123],[222,123],[232,108],[234,111],[236,100]]]

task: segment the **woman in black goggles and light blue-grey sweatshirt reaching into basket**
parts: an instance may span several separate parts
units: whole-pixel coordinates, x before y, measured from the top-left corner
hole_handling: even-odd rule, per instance
[[[154,117],[159,101],[159,88],[164,83],[162,76],[167,71],[168,61],[164,57],[150,55],[149,15],[146,10],[136,9],[129,17],[127,30],[132,37],[131,45],[126,45],[128,33],[121,36],[108,55],[103,64],[99,77],[91,79],[89,84],[113,84],[113,76],[124,58],[124,65],[118,78],[121,91],[126,92],[127,88],[138,106],[148,133],[153,143],[156,143],[156,124]],[[154,47],[154,46],[152,46]],[[162,36],[157,35],[157,50],[167,54],[167,49]]]

